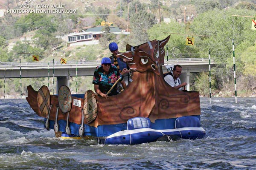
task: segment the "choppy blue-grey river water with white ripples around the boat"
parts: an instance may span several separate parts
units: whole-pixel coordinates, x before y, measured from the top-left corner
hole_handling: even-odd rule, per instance
[[[256,98],[201,100],[206,138],[101,145],[55,138],[26,99],[0,100],[1,170],[256,169]]]

